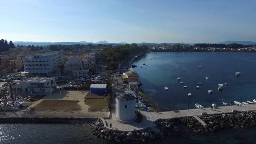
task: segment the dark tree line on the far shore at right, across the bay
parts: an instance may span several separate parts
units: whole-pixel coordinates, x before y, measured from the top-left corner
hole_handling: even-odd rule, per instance
[[[200,47],[200,48],[208,48],[208,47],[213,47],[213,48],[233,48],[233,49],[238,49],[238,48],[248,48],[248,47],[253,47],[256,45],[241,45],[238,43],[230,43],[228,45],[226,44],[217,44],[217,43],[196,43],[194,47]]]

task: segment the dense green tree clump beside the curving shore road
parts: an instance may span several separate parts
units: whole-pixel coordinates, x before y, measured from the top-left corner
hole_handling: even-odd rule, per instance
[[[115,69],[118,67],[120,61],[123,61],[125,58],[132,56],[133,54],[146,52],[147,49],[148,47],[146,45],[138,46],[136,43],[114,47],[109,45],[109,48],[101,51],[100,57],[102,62],[105,63],[106,69]]]

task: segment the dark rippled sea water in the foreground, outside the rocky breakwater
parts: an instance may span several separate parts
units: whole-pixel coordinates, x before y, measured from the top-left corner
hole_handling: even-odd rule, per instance
[[[254,144],[256,127],[248,129],[228,129],[217,133],[193,133],[182,126],[179,136],[166,137],[161,140],[147,141],[147,144]],[[108,144],[91,135],[90,126],[68,124],[0,124],[1,144]],[[82,141],[81,141],[82,140]],[[140,144],[140,142],[131,142]]]

